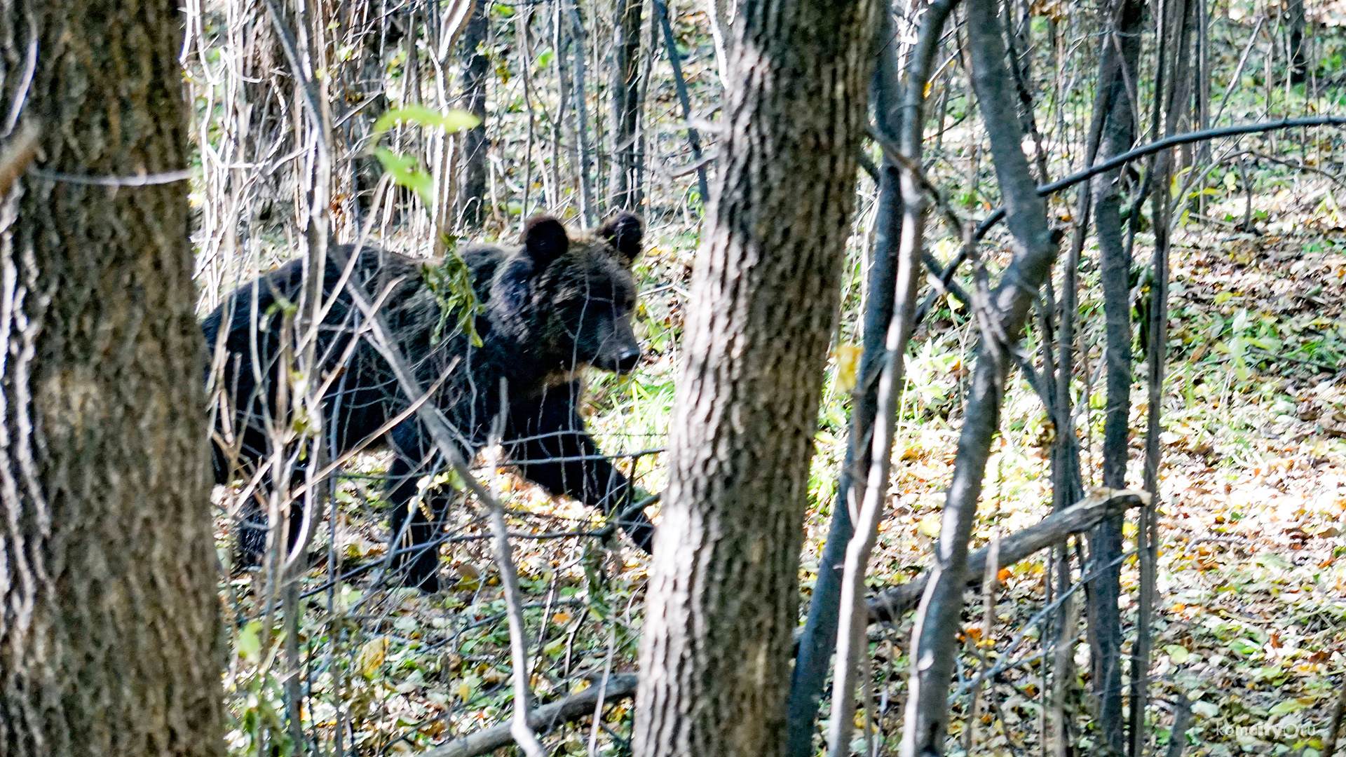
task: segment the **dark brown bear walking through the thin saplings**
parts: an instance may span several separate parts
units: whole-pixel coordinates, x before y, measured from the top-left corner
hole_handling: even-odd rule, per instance
[[[631,330],[637,288],[630,267],[639,256],[642,233],[639,218],[630,214],[618,216],[594,234],[576,238],[567,234],[560,221],[540,217],[529,221],[518,248],[474,245],[464,249],[462,256],[482,303],[482,312],[475,319],[481,346],[474,346],[468,334],[451,331],[456,314],[448,319],[443,339],[432,343],[441,310],[423,271],[427,263],[435,261],[365,248],[353,277],[374,299],[392,287],[382,312],[421,387],[432,387],[452,366],[432,401],[454,424],[467,459],[489,443],[493,423],[501,415],[503,380],[507,408],[502,440],[518,471],[552,494],[567,494],[611,512],[614,506],[626,506],[633,488],[599,455],[584,430],[579,414],[583,388],[577,376],[586,365],[626,373],[639,362],[641,350]],[[349,260],[353,252],[350,246],[335,249],[324,276],[328,296],[342,273],[339,261]],[[229,325],[218,348],[225,352],[221,385],[234,408],[229,427],[234,430],[238,465],[232,463],[234,454],[219,443],[229,438],[222,418],[214,445],[219,484],[226,484],[230,473],[250,475],[271,454],[264,418],[273,414],[277,404],[283,326],[281,318],[268,317],[268,311],[277,302],[297,300],[302,273],[299,260],[281,265],[238,287],[202,323],[213,356],[226,318]],[[359,322],[358,308],[343,292],[322,323],[318,341],[322,376],[341,368]],[[260,388],[253,370],[254,331],[256,362],[262,374]],[[324,440],[339,455],[406,405],[384,358],[361,338],[323,396]],[[406,567],[405,585],[433,591],[439,586],[439,551],[432,541],[440,528],[423,508],[412,508],[412,500],[416,481],[433,473],[425,461],[432,461],[429,466],[441,461],[432,457],[435,447],[415,415],[394,426],[381,442],[394,451],[389,469],[393,504],[389,528],[396,540],[390,546],[393,566]],[[432,506],[439,520],[444,501],[437,500]],[[299,533],[300,512],[302,508],[296,508],[291,517],[291,544]],[[619,525],[637,546],[649,551],[653,527],[645,513],[629,516]],[[265,516],[260,508],[252,508],[240,535],[245,558],[260,555],[265,529]]]

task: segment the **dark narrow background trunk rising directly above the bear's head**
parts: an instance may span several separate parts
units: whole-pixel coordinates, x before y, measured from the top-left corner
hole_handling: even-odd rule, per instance
[[[639,207],[641,163],[637,128],[641,119],[641,5],[616,0],[612,18],[612,167],[607,182],[608,210]]]

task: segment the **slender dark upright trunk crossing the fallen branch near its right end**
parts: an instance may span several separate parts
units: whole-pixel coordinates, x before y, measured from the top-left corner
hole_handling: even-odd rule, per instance
[[[1104,128],[1098,159],[1106,160],[1131,150],[1136,137],[1135,113],[1139,104],[1132,90],[1140,58],[1140,22],[1144,5],[1120,0],[1109,8],[1110,27],[1100,40],[1100,82],[1110,92],[1102,98]],[[1128,275],[1131,255],[1121,230],[1121,168],[1093,179],[1094,228],[1106,319],[1108,405],[1102,434],[1102,485],[1127,488],[1127,458],[1131,442],[1131,300]],[[1094,529],[1089,540],[1094,567],[1121,555],[1119,513]],[[1089,591],[1089,628],[1094,644],[1092,656],[1094,695],[1098,698],[1098,725],[1104,744],[1114,754],[1123,752],[1121,715],[1121,567],[1102,570]]]

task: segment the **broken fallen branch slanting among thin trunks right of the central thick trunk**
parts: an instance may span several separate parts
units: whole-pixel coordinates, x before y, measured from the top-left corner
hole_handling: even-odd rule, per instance
[[[1149,504],[1148,492],[1133,489],[1105,489],[1098,486],[1074,505],[1049,515],[1036,525],[1030,525],[1000,540],[1000,567],[1010,567],[1014,563],[1046,550],[1053,544],[1063,541],[1071,533],[1089,531],[1105,517]],[[981,574],[987,567],[987,550],[977,550],[968,555],[968,575],[975,577],[969,586],[981,583]],[[909,610],[915,609],[925,594],[926,582],[930,574],[926,572],[902,586],[895,586],[875,597],[871,597],[870,622],[895,621],[902,618]]]

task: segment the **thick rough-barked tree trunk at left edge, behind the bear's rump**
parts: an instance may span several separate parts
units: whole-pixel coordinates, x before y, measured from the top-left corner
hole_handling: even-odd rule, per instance
[[[5,5],[30,44],[44,170],[188,166],[176,3]],[[223,754],[187,183],[30,178],[4,218],[0,756]]]

